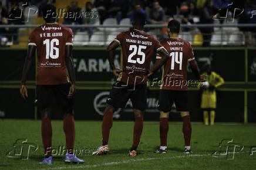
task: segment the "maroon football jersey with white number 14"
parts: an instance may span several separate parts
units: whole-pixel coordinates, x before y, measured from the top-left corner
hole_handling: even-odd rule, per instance
[[[160,89],[187,90],[187,63],[194,60],[194,53],[190,43],[180,38],[169,38],[161,44],[170,53],[170,58],[163,65]],[[156,59],[161,59],[159,55]]]

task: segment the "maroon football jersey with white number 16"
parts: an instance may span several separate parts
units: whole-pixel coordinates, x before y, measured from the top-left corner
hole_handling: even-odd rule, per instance
[[[36,84],[56,85],[68,83],[66,72],[66,45],[73,45],[73,32],[58,23],[35,28],[29,36],[28,45],[36,46],[38,69]]]

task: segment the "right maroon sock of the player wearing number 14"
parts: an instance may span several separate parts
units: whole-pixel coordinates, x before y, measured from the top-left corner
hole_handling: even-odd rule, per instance
[[[186,115],[181,117],[183,120],[183,135],[185,140],[185,146],[190,146],[190,138],[191,138],[191,123],[190,123],[190,116]]]

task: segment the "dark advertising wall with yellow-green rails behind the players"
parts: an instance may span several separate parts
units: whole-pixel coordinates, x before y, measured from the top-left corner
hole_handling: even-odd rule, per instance
[[[206,63],[211,63],[214,72],[220,74],[225,84],[217,89],[216,121],[220,122],[256,122],[256,48],[244,47],[195,47],[194,55],[203,72]],[[24,48],[1,48],[2,67],[0,72],[0,117],[5,118],[40,118],[33,106],[35,96],[35,62],[28,75],[28,100],[19,97],[19,80],[23,62],[26,56]],[[74,48],[75,70],[77,76],[77,91],[75,96],[76,120],[101,120],[105,100],[114,81],[107,62],[106,49]],[[119,66],[120,49],[116,52],[115,64]],[[154,60],[154,59],[153,59]],[[153,64],[153,63],[152,63]],[[160,74],[160,72],[159,72]],[[160,77],[156,74],[155,77]],[[188,68],[188,79],[193,74]],[[159,87],[149,88],[147,98],[148,108],[145,120],[159,120],[156,109]],[[190,109],[192,121],[203,121],[200,110],[201,91],[190,88]],[[114,118],[118,120],[133,120],[133,110],[130,103],[123,110],[117,110]],[[58,108],[53,118],[61,119]],[[181,121],[180,115],[173,109],[170,120]]]

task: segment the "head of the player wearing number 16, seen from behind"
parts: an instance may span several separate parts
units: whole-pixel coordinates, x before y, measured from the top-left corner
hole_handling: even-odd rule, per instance
[[[57,18],[56,8],[52,4],[46,4],[43,6],[42,9],[43,13],[43,19],[45,19],[46,22],[55,22]]]

